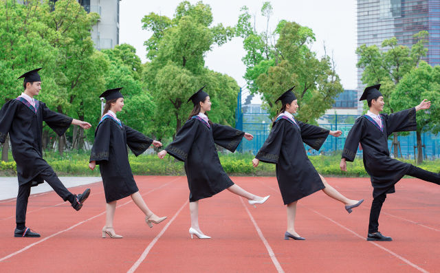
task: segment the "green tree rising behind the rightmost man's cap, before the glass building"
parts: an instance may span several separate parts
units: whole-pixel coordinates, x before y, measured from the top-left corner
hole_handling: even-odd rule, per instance
[[[426,56],[427,49],[424,47],[428,32],[421,31],[413,36],[417,43],[408,48],[398,45],[396,38],[386,39],[382,42],[382,48],[377,45],[361,45],[356,49],[359,55],[357,66],[364,69],[362,72],[362,83],[365,85],[381,84],[380,91],[386,102],[390,102],[391,95],[399,84],[400,80],[408,74],[411,69],[417,67],[423,56]],[[385,113],[393,113],[392,103],[386,103]],[[366,108],[366,105],[365,107]],[[394,157],[398,156],[397,133],[393,133]]]

